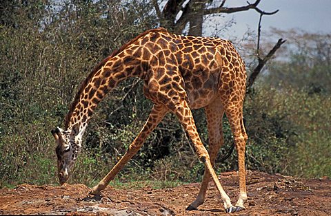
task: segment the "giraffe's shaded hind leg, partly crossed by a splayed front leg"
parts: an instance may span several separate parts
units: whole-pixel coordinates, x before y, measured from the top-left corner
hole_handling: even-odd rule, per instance
[[[214,100],[210,105],[205,107],[205,115],[207,117],[208,125],[208,137],[209,137],[209,150],[210,162],[214,166],[217,153],[220,147],[223,145],[223,129],[222,129],[222,118],[224,110],[221,106],[221,102],[217,99]],[[208,183],[210,181],[210,173],[205,170],[203,174],[203,180],[200,186],[199,195],[197,198],[186,208],[186,210],[197,209],[198,206],[203,204],[205,201],[205,193],[208,188]]]

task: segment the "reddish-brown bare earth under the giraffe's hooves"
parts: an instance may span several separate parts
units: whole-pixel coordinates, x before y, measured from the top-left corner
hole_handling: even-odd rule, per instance
[[[236,172],[219,176],[225,191],[237,200]],[[249,204],[233,215],[331,215],[331,180],[303,180],[248,171]],[[108,186],[101,196],[88,195],[83,184],[36,186],[21,184],[0,190],[0,214],[33,215],[226,215],[217,189],[210,184],[199,210],[186,211],[199,183],[175,188],[119,190]]]

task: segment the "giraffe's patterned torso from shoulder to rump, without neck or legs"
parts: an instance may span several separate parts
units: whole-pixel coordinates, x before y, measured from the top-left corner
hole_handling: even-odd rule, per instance
[[[230,94],[234,85],[244,88],[245,67],[230,41],[154,30],[137,42],[142,61],[150,67],[147,80],[154,76],[167,92],[180,85],[192,109],[205,107],[220,92]],[[144,91],[152,99],[148,87]]]

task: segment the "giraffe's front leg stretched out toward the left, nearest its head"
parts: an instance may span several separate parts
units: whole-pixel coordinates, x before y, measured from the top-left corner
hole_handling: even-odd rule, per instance
[[[100,192],[106,188],[111,180],[114,179],[115,175],[121,171],[128,160],[130,160],[133,155],[139,151],[148,135],[154,130],[155,127],[157,127],[157,125],[159,125],[159,122],[161,122],[167,112],[168,109],[166,109],[163,105],[154,105],[147,122],[143,126],[143,129],[141,129],[137,138],[135,138],[130,144],[128,151],[123,155],[121,160],[119,160],[112,170],[105,177],[103,177],[103,180],[101,180],[99,184],[92,188],[92,191],[90,192],[92,195],[100,195]]]

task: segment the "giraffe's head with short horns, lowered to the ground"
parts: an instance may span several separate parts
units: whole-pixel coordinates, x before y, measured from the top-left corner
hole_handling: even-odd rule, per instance
[[[80,151],[80,140],[76,139],[77,134],[74,134],[74,130],[64,131],[57,127],[52,130],[52,135],[57,142],[57,176],[59,177],[60,184],[66,183],[69,178],[70,171],[74,162],[77,159],[77,155]]]

